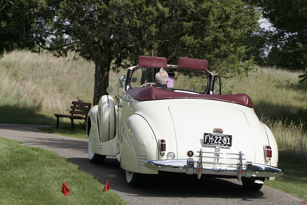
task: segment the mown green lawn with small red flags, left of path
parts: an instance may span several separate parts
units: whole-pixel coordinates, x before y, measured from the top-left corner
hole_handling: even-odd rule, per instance
[[[56,153],[0,138],[0,204],[128,204]],[[71,189],[61,193],[62,182]],[[104,195],[104,198],[103,198]]]

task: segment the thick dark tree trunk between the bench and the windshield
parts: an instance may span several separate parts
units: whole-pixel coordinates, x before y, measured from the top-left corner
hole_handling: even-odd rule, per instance
[[[112,61],[111,55],[103,49],[101,55],[92,57],[95,62],[95,85],[94,85],[94,98],[93,105],[98,104],[99,99],[103,95],[107,95],[107,87],[109,86],[109,72]]]

